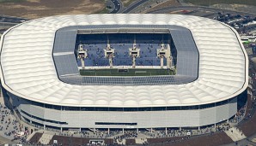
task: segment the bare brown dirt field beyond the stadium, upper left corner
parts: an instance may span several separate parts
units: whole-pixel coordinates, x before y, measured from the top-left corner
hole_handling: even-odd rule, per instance
[[[104,0],[27,0],[16,3],[1,3],[0,15],[35,19],[51,15],[92,14],[104,8]]]

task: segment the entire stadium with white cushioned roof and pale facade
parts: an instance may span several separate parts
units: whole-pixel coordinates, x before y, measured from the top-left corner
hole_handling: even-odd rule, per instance
[[[191,15],[64,15],[1,38],[5,102],[44,128],[152,129],[234,117],[248,85],[238,33]]]

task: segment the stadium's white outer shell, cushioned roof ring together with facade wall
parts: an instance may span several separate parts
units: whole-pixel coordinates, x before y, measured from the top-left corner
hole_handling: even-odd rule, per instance
[[[71,85],[59,80],[52,57],[56,32],[67,26],[107,25],[185,27],[198,49],[198,79],[180,85]],[[9,102],[22,117],[46,126],[206,126],[235,115],[235,96],[248,84],[247,53],[235,29],[191,15],[52,16],[9,28],[0,46],[1,83],[11,95]]]

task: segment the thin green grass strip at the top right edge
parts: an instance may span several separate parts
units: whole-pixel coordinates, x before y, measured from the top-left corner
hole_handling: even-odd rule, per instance
[[[246,4],[256,6],[255,0],[184,0],[184,2],[203,6],[209,6],[217,3]]]

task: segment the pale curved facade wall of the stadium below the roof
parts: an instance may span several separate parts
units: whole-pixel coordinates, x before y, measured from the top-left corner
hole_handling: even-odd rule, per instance
[[[56,110],[32,105],[17,96],[11,98],[27,121],[58,128],[198,127],[229,120],[237,109],[236,97],[220,105],[214,103],[210,108],[126,112]]]

